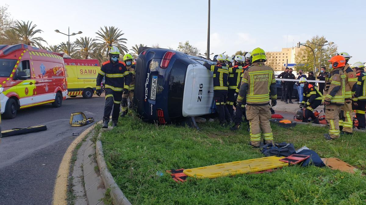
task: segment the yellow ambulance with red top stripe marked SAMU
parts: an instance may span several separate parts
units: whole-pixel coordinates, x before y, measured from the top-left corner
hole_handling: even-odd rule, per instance
[[[67,95],[91,98],[96,92],[97,75],[100,64],[97,59],[68,59],[65,58]]]

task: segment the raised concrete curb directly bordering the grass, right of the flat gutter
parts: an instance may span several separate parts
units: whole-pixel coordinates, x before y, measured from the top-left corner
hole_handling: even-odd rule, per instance
[[[102,129],[102,132],[111,130],[112,127],[108,127],[107,129]],[[99,133],[98,139],[100,139],[102,132]],[[111,191],[109,192],[112,196],[113,204],[118,205],[131,205],[130,201],[124,196],[122,190],[119,188],[117,183],[114,181],[112,174],[109,172],[107,168],[107,164],[104,160],[104,153],[102,148],[102,142],[97,140],[96,143],[96,155],[97,155],[97,163],[100,171],[100,175],[102,177],[102,181],[106,188],[109,188]]]

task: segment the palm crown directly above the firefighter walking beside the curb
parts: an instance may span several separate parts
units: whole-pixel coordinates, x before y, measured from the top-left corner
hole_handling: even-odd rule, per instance
[[[128,49],[126,47],[126,38],[121,38],[124,33],[122,33],[119,28],[115,28],[114,26],[104,26],[104,29],[100,27],[100,30],[96,32],[97,40],[100,41],[98,43],[98,47],[100,47],[103,51],[109,50],[111,46],[117,46],[122,55],[124,52],[128,53]]]

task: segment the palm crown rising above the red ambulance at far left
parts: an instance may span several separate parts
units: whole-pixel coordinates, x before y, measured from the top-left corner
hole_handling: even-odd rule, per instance
[[[19,22],[18,20],[15,22],[15,26],[12,27],[20,36],[20,40],[22,43],[29,46],[38,46],[41,47],[41,42],[47,43],[42,37],[33,37],[34,35],[43,32],[40,29],[36,29],[37,25],[32,22],[24,21]]]

